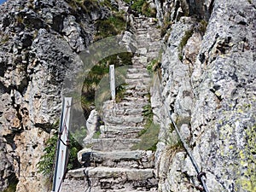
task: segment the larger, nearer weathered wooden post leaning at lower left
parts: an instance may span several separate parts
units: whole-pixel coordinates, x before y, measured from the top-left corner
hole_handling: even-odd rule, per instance
[[[61,124],[57,143],[55,174],[53,177],[52,191],[61,191],[61,183],[64,179],[68,159],[68,130],[70,121],[72,97],[65,97],[62,101]]]

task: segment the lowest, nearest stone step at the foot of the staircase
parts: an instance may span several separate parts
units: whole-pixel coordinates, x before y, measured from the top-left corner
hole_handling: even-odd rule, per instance
[[[146,191],[157,187],[154,169],[86,167],[67,172],[67,177],[77,180],[84,178],[87,181],[84,182],[84,189],[89,187],[91,192],[117,191],[120,189],[127,192],[131,190]],[[64,181],[62,189],[65,188]]]

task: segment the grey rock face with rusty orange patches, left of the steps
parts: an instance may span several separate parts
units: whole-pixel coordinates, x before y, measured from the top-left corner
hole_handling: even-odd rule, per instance
[[[108,15],[85,12],[75,1],[8,1],[0,13],[0,190],[47,191],[37,163],[59,119],[62,81],[78,67],[79,51],[92,41],[90,21]]]

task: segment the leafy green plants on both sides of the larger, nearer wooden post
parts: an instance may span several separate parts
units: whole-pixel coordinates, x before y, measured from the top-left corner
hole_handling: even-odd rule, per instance
[[[58,125],[53,125],[53,129],[57,129]],[[78,134],[78,133],[76,133]],[[67,170],[77,168],[80,166],[79,161],[77,159],[77,154],[82,147],[77,143],[77,141],[73,138],[73,135],[70,135],[69,142],[69,159],[67,163]],[[54,162],[55,162],[55,151],[58,141],[58,133],[55,132],[54,136],[50,137],[48,141],[45,143],[44,154],[41,156],[38,162],[38,172],[42,173],[44,177],[52,179],[54,175]]]

